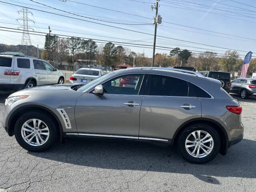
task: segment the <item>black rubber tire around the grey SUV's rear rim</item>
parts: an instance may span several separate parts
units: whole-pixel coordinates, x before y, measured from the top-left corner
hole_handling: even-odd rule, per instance
[[[202,131],[208,132],[211,135],[211,137],[213,139],[213,143],[214,143],[212,151],[210,152],[210,154],[208,154],[205,157],[201,157],[201,158],[196,158],[196,157],[191,156],[187,152],[186,147],[185,147],[186,138],[192,132],[197,131],[197,130],[202,130]],[[187,128],[185,128],[178,137],[178,151],[180,152],[182,157],[190,163],[204,164],[204,163],[210,162],[211,160],[213,160],[216,157],[216,155],[220,151],[220,136],[218,135],[216,130],[208,124],[193,124],[193,125],[190,125]],[[202,150],[201,150],[201,152],[202,152]]]

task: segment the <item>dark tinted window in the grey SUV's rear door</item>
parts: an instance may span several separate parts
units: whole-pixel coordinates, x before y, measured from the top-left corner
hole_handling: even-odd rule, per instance
[[[152,75],[148,95],[188,96],[188,84],[184,80],[168,76]]]

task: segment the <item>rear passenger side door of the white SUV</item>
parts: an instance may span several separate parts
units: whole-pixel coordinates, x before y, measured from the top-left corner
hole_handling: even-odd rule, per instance
[[[34,69],[36,70],[36,76],[38,79],[38,86],[48,84],[48,72],[46,71],[44,64],[41,60],[33,59]]]

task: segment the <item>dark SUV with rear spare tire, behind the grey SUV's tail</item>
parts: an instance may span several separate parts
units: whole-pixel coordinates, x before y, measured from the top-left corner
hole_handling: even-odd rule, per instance
[[[221,87],[229,92],[231,86],[231,77],[229,72],[221,71],[200,71],[205,77],[217,79],[221,82]]]

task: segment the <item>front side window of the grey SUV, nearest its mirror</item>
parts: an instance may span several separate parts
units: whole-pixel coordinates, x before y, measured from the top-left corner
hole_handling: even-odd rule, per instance
[[[102,84],[106,94],[138,95],[144,74],[118,76]]]

